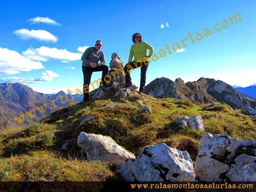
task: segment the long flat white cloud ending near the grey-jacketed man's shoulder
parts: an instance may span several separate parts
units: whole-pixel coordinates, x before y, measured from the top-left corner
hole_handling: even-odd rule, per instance
[[[57,49],[42,46],[40,48],[28,48],[22,52],[22,55],[36,61],[48,61],[50,59],[77,61],[81,60],[81,53],[72,53],[66,49]]]

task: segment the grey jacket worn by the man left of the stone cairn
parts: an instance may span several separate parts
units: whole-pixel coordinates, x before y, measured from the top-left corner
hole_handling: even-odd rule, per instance
[[[98,66],[105,65],[104,52],[96,50],[95,47],[89,47],[82,55],[82,66],[90,67],[90,63],[98,63]],[[101,62],[99,62],[101,61]]]

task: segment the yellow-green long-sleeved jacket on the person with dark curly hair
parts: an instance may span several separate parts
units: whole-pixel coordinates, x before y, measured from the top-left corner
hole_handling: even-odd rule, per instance
[[[148,61],[149,58],[145,57],[147,50],[149,50],[149,57],[151,57],[154,52],[154,48],[151,45],[149,45],[149,43],[146,43],[144,41],[134,43],[134,45],[132,45],[130,49],[128,63],[131,62],[133,56],[134,61],[136,62]]]

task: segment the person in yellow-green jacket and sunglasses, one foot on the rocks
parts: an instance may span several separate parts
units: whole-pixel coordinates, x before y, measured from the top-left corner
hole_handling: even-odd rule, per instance
[[[147,67],[149,66],[149,58],[152,56],[154,48],[151,45],[149,45],[149,43],[142,41],[142,36],[140,33],[134,33],[134,35],[132,36],[132,42],[134,42],[134,44],[130,48],[129,60],[124,68],[125,86],[134,86],[131,82],[130,70],[140,67],[141,70],[139,92],[140,94],[142,94],[144,92],[146,84],[146,72]],[[149,55],[146,55],[147,50],[149,50]],[[134,61],[131,61],[132,57],[134,57]]]

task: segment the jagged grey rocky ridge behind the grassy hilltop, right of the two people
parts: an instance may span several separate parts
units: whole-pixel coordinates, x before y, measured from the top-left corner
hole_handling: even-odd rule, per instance
[[[227,83],[213,78],[199,78],[198,81],[186,82],[177,78],[156,78],[145,87],[145,93],[157,98],[173,97],[176,99],[190,99],[199,103],[222,101],[233,109],[244,109],[250,106],[239,91]]]

